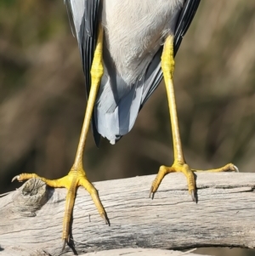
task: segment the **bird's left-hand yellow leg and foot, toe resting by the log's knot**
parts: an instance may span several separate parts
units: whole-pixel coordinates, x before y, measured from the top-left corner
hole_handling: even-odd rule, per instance
[[[99,210],[100,216],[105,219],[105,223],[109,224],[107,219],[105,209],[103,208],[102,203],[99,200],[99,195],[94,185],[92,185],[85,174],[85,171],[82,166],[82,156],[84,151],[85,142],[88,136],[88,130],[90,126],[90,121],[92,117],[92,113],[94,110],[94,103],[96,100],[97,92],[99,89],[101,77],[103,76],[103,28],[99,25],[99,36],[97,40],[97,45],[94,52],[94,60],[91,66],[91,88],[88,96],[88,105],[85,112],[84,122],[82,126],[82,134],[80,137],[79,145],[77,148],[77,156],[75,158],[75,162],[71,168],[69,174],[61,179],[49,180],[42,177],[39,177],[37,174],[20,174],[14,179],[18,179],[19,181],[31,178],[39,178],[42,179],[47,185],[52,187],[65,187],[67,189],[67,195],[65,200],[65,215],[63,221],[63,236],[64,240],[63,248],[65,247],[65,243],[69,240],[69,230],[70,230],[70,221],[71,221],[71,213],[73,210],[75,196],[77,187],[82,185],[92,197],[96,208]],[[14,180],[13,179],[13,180]]]

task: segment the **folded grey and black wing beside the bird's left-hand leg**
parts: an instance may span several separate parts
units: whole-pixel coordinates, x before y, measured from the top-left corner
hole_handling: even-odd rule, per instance
[[[86,91],[87,95],[89,95],[91,84],[90,69],[97,39],[100,0],[64,0],[64,3],[69,14],[69,20],[73,21],[71,27],[77,36],[85,75]],[[94,115],[92,117],[92,127],[95,143],[99,145],[100,135],[95,128]]]

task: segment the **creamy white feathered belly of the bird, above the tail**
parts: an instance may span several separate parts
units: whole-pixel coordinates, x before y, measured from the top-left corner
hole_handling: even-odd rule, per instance
[[[105,0],[105,47],[117,74],[132,86],[144,76],[167,35],[173,34],[184,0]]]

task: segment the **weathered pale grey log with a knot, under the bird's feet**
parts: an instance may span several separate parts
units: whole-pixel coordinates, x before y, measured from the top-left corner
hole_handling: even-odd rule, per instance
[[[0,198],[0,253],[73,255],[127,247],[255,247],[255,174],[196,174],[197,203],[190,199],[183,174],[168,174],[154,199],[149,199],[154,178],[94,183],[111,226],[100,219],[88,192],[79,188],[71,225],[73,244],[64,253],[66,191],[31,179]],[[136,252],[131,255],[139,255],[139,249]]]

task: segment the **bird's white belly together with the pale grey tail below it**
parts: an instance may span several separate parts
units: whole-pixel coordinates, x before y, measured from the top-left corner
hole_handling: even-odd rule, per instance
[[[99,134],[111,144],[133,128],[150,89],[149,80],[153,80],[160,63],[154,57],[167,35],[173,34],[183,3],[184,0],[103,0],[104,75],[94,120]]]

